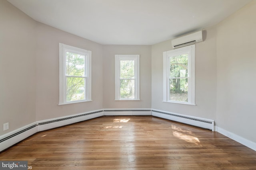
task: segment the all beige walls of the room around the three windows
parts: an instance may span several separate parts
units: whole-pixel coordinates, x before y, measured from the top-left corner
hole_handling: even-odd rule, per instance
[[[38,23],[0,0],[0,126],[97,109],[153,108],[214,119],[217,127],[256,142],[256,1],[206,28],[196,44],[196,106],[164,103],[163,55],[171,41],[152,46],[100,45]],[[92,51],[92,102],[58,106],[58,43]],[[114,55],[140,55],[140,101],[114,101]]]

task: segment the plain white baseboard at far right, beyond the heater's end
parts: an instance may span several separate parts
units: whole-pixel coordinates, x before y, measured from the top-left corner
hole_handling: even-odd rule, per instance
[[[215,126],[215,130],[218,133],[221,133],[222,135],[225,135],[226,137],[229,137],[230,139],[233,139],[234,141],[241,143],[242,145],[256,151],[256,143],[255,142],[252,142],[252,141],[245,139],[243,137],[240,137],[234,133],[226,131],[225,129],[222,129],[221,127]]]

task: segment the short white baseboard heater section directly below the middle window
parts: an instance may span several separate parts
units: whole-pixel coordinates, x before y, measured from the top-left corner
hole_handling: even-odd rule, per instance
[[[104,115],[152,115],[152,112],[151,109],[104,109]]]

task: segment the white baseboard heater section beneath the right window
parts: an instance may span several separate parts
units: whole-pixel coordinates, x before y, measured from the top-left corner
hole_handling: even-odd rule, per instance
[[[152,109],[152,115],[214,131],[214,120]]]

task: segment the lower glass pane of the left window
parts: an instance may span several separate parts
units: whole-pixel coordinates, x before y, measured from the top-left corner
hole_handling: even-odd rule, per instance
[[[67,77],[67,102],[85,100],[85,78]]]

